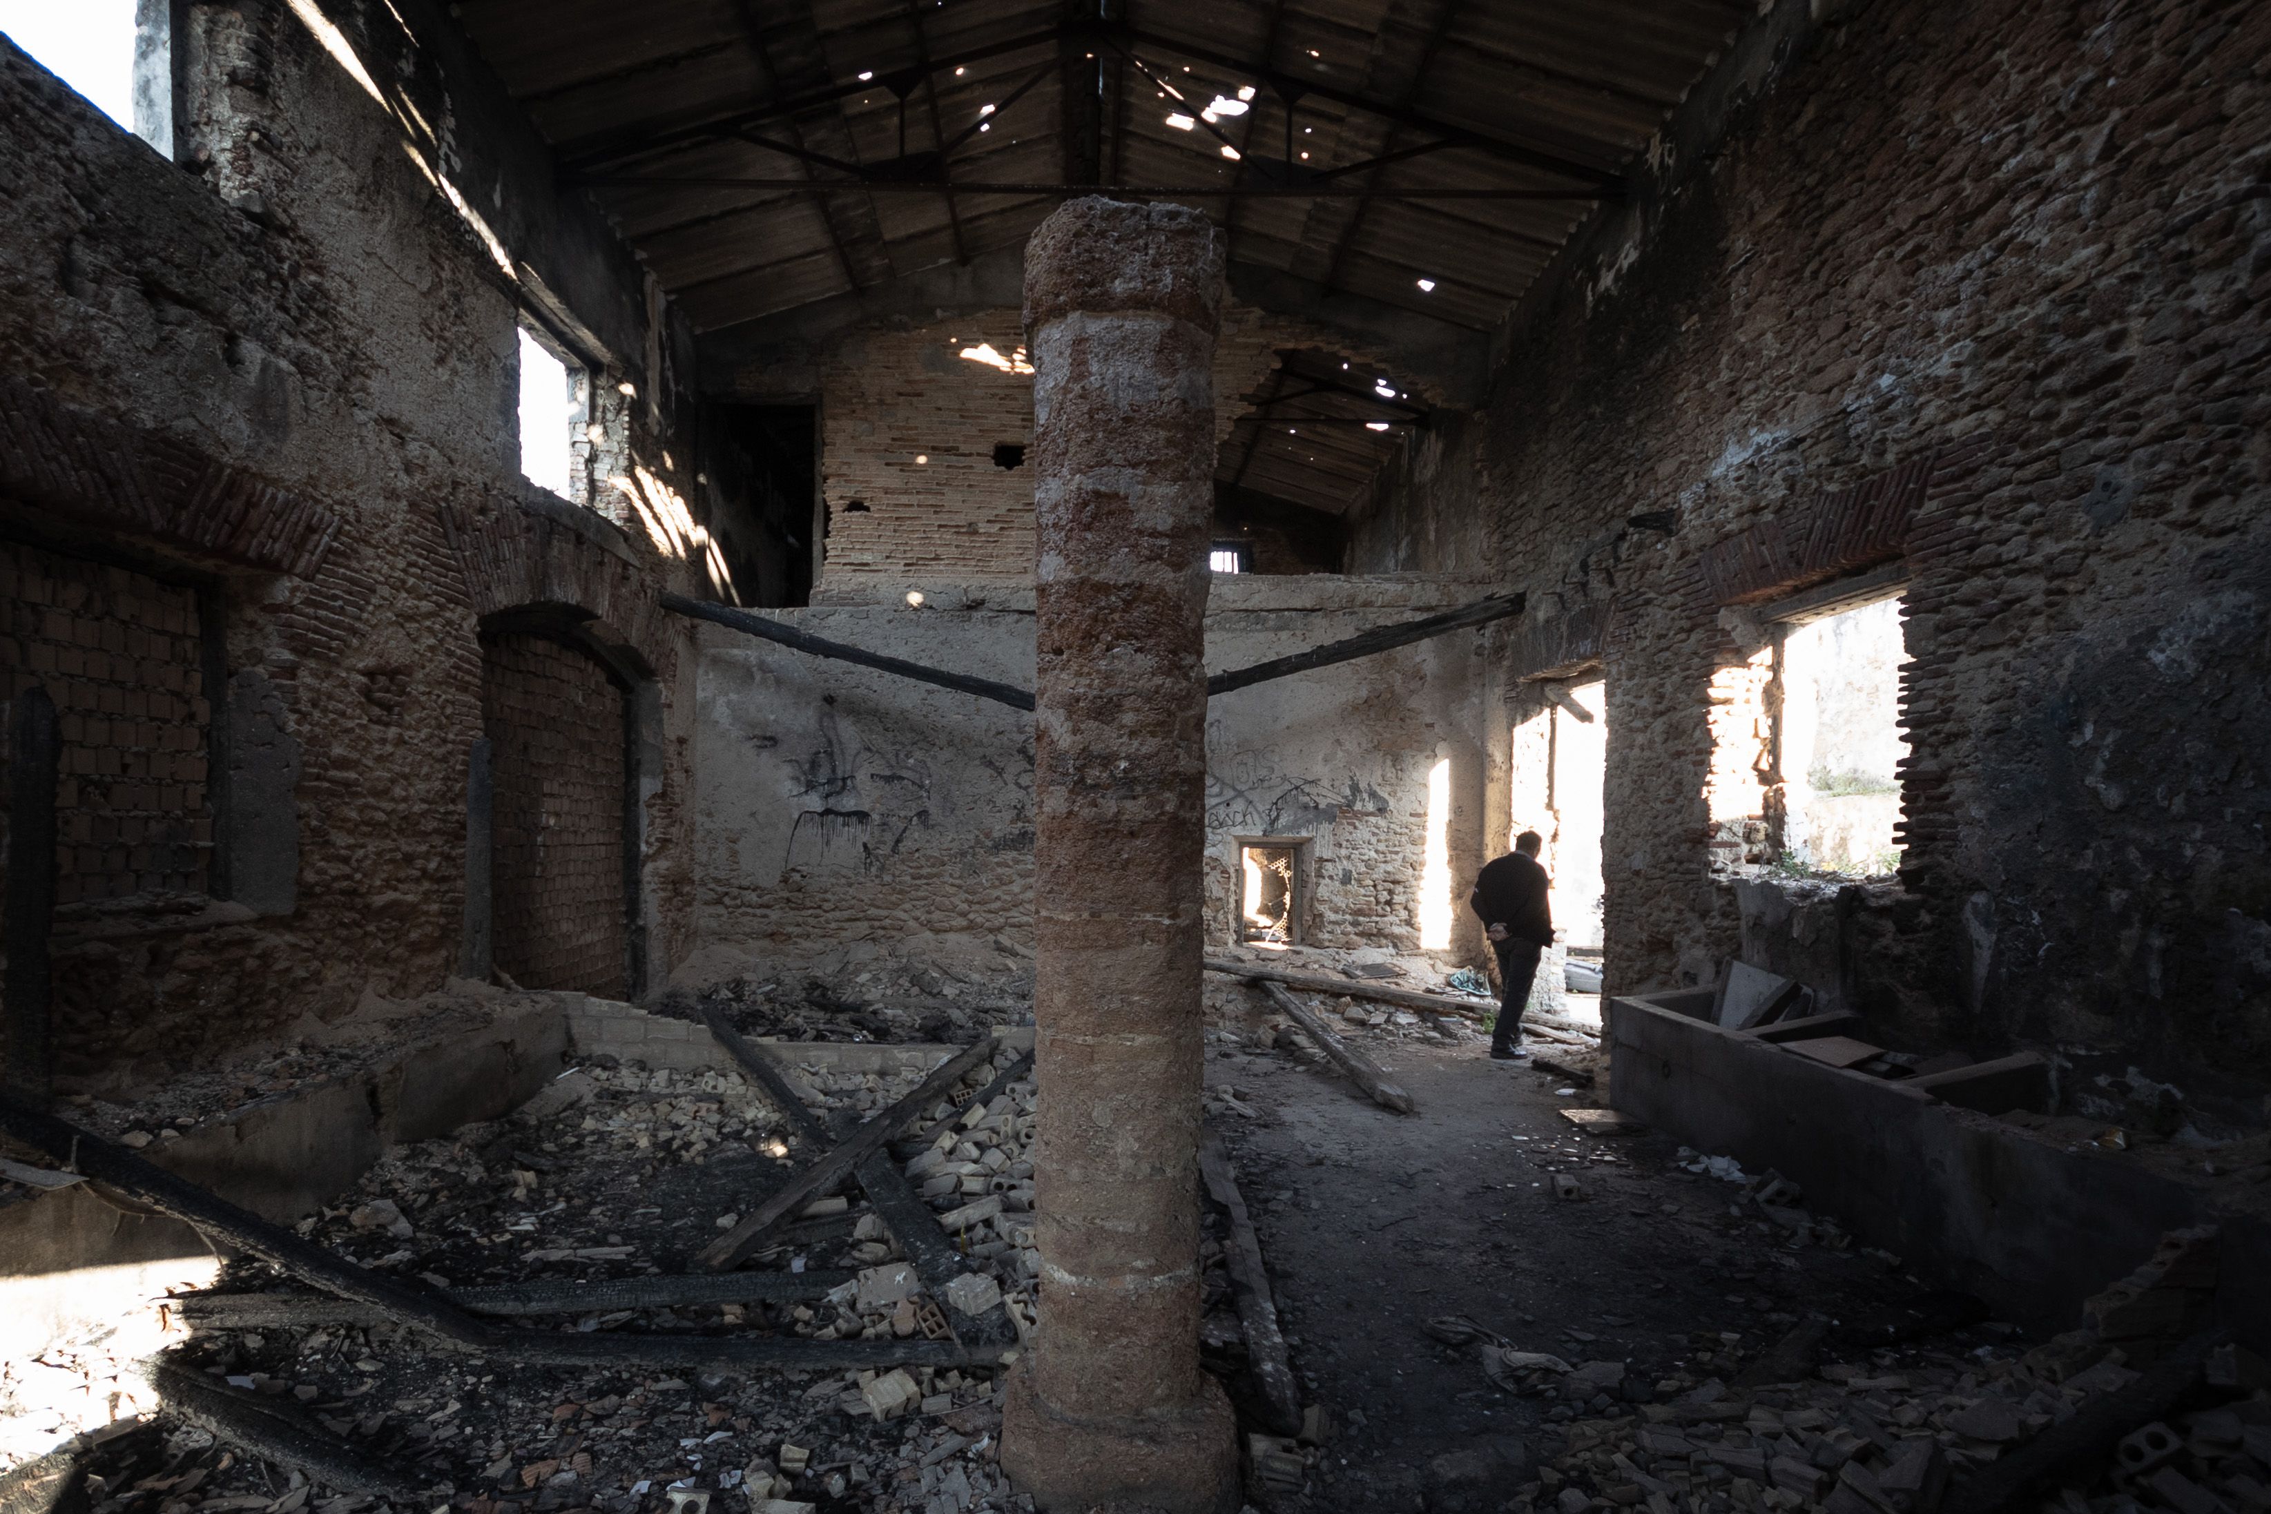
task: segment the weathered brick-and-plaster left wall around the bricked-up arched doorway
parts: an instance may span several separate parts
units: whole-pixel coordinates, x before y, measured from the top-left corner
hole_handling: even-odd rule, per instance
[[[234,849],[238,892],[59,922],[66,1087],[164,1076],[456,972],[479,620],[527,595],[597,615],[652,672],[643,903],[654,958],[688,947],[684,631],[652,608],[688,549],[670,506],[690,479],[663,454],[693,449],[652,361],[677,338],[625,325],[645,309],[636,263],[545,209],[547,173],[497,168],[540,161],[534,136],[443,89],[402,7],[322,11],[336,36],[293,7],[191,7],[182,150],[209,150],[200,173],[0,43],[0,538],[209,583],[232,731],[213,847]],[[575,511],[518,477],[522,293],[427,170],[456,175],[516,266],[588,293],[575,313],[629,354],[600,375],[640,395],[609,420],[629,531],[554,531],[540,511]]]

